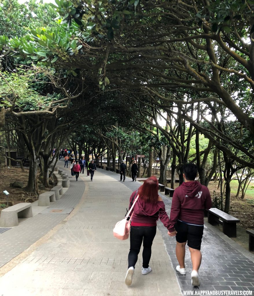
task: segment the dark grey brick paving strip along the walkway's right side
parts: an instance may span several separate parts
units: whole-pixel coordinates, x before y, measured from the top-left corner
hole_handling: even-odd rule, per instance
[[[120,180],[120,175],[108,171],[112,178]],[[119,181],[120,182],[120,181]],[[140,182],[132,182],[131,178],[126,178],[123,183],[133,191],[138,189]],[[160,194],[160,193],[159,193]],[[170,214],[171,201],[169,197],[160,194],[165,203],[166,211]],[[173,267],[178,265],[175,256],[175,237],[169,237],[164,225],[158,221],[157,227],[160,230],[167,252],[171,258]],[[241,252],[225,242],[215,232],[205,226],[202,239],[202,264],[199,269],[201,285],[200,290],[233,290],[254,292],[254,262],[246,258]],[[177,273],[182,290],[189,290],[191,278],[191,258],[186,246],[186,275]]]

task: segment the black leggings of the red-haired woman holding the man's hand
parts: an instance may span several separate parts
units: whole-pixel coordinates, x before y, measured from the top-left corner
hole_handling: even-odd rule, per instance
[[[143,241],[143,268],[148,268],[152,253],[152,244],[156,234],[156,226],[131,226],[130,228],[130,252],[128,263],[135,267],[138,260],[138,253]]]

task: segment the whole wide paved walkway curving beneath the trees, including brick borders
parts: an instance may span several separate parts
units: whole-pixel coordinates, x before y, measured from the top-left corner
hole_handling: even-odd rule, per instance
[[[1,296],[181,295],[181,289],[193,289],[188,251],[186,276],[177,275],[175,238],[167,235],[160,222],[152,247],[152,273],[141,275],[140,253],[133,285],[125,286],[129,240],[115,239],[112,229],[124,216],[139,182],[126,178],[123,183],[119,175],[100,169],[93,182],[86,174],[81,174],[79,182],[70,181],[71,187],[50,209],[0,234],[2,264],[20,253],[0,268]],[[162,197],[169,213],[171,201]],[[252,254],[208,225],[202,253],[200,290],[254,291]]]

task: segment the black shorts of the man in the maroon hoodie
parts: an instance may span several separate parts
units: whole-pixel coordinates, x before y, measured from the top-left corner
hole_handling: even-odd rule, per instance
[[[177,221],[175,224],[175,230],[177,231],[175,236],[177,242],[187,242],[188,247],[200,250],[204,225],[191,225]]]

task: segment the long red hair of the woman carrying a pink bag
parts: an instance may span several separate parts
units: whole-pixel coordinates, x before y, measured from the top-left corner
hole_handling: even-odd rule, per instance
[[[156,203],[158,201],[159,182],[156,177],[146,179],[138,189],[139,198],[145,202]]]

